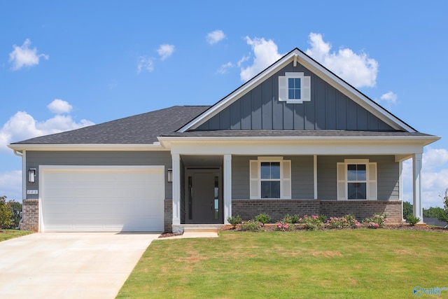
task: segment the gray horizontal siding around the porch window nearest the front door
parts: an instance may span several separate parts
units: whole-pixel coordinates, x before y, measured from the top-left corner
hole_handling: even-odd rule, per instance
[[[232,156],[232,199],[247,200],[249,190],[249,161],[257,160],[257,156]],[[313,156],[283,156],[283,160],[291,160],[291,195],[293,199],[313,199]]]

